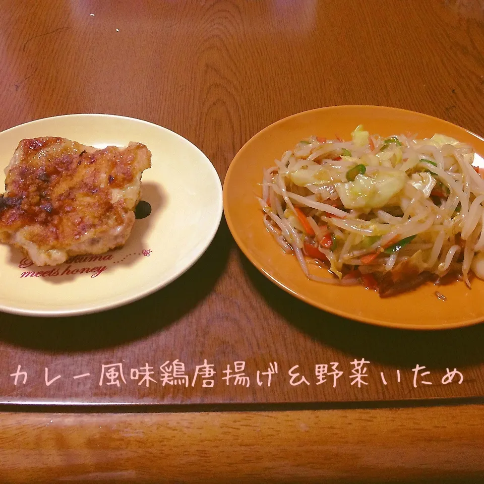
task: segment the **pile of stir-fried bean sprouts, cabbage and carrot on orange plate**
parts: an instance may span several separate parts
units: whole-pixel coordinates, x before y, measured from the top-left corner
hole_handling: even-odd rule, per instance
[[[484,278],[484,180],[473,157],[439,134],[381,137],[360,125],[350,141],[308,137],[265,172],[266,227],[312,280],[382,297],[451,273],[470,285],[471,270]],[[304,256],[335,277],[314,274]]]

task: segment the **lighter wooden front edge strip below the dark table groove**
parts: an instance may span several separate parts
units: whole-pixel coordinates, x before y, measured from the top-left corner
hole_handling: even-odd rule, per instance
[[[5,414],[0,481],[481,481],[477,407],[351,412]]]

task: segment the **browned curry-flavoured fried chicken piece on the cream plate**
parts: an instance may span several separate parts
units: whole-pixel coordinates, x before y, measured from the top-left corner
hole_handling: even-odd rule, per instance
[[[150,166],[140,143],[98,150],[58,137],[22,140],[5,170],[0,241],[37,266],[123,246]]]

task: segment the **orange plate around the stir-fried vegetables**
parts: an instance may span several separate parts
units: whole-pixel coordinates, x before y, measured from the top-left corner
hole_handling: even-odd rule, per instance
[[[308,280],[296,259],[286,255],[264,227],[256,199],[261,196],[262,172],[286,150],[311,135],[350,139],[357,125],[370,133],[390,136],[410,131],[419,138],[435,133],[472,145],[484,155],[484,139],[425,114],[380,106],[335,106],[289,116],[262,130],[237,153],[225,176],[223,205],[236,243],[271,281],[317,308],[339,316],[381,326],[407,329],[457,328],[484,321],[484,281],[472,289],[463,282],[447,286],[429,283],[415,291],[381,299],[362,286],[342,287]],[[442,301],[435,291],[447,298]]]

